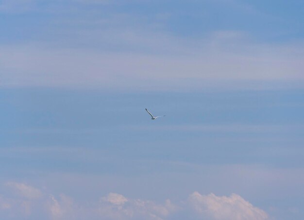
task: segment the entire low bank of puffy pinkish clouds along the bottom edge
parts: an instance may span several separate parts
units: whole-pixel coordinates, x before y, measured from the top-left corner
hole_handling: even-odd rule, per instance
[[[0,196],[0,218],[11,219],[40,218],[51,220],[167,220],[184,216],[188,219],[208,220],[267,220],[265,211],[254,207],[241,196],[230,197],[214,194],[201,195],[194,192],[187,200],[176,204],[167,199],[164,203],[150,200],[130,199],[118,193],[109,193],[100,201],[78,201],[67,195],[48,195],[34,187],[22,183],[7,183],[17,189],[21,198]],[[37,200],[39,198],[39,200]]]

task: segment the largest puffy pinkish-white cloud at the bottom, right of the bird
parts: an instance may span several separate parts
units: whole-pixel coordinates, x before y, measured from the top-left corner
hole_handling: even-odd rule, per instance
[[[230,197],[216,196],[213,193],[201,195],[192,193],[188,198],[192,208],[203,217],[211,220],[266,220],[265,211],[254,207],[237,194]]]

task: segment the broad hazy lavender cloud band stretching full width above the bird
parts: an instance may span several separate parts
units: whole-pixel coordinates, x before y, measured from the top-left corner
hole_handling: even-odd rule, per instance
[[[288,87],[288,82],[294,86],[304,80],[301,47],[233,46],[239,52],[228,52],[223,47],[226,46],[206,47],[187,56],[183,50],[177,55],[160,56],[35,46],[2,47],[1,86],[174,90],[220,85],[271,88],[271,82]],[[244,47],[248,50],[244,51]],[[254,83],[263,81],[266,83],[259,87]]]

